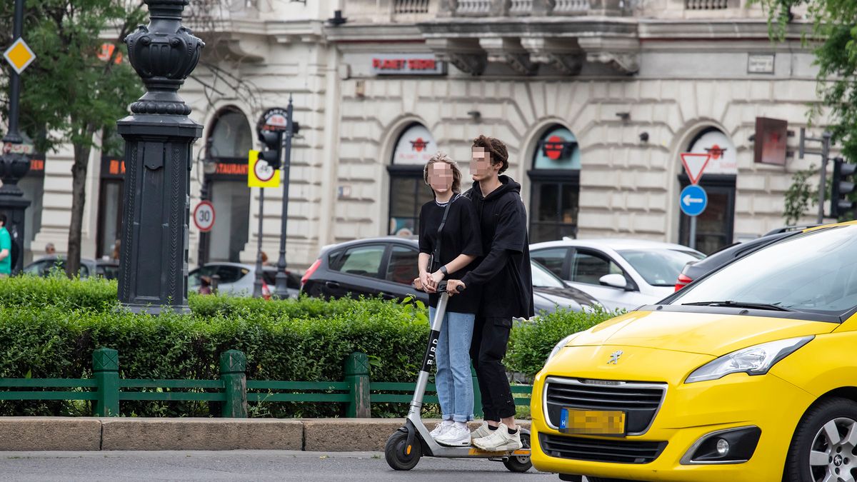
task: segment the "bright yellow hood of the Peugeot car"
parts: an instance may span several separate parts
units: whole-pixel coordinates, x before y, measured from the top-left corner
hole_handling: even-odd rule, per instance
[[[719,357],[768,341],[830,333],[838,326],[765,316],[632,311],[581,332],[568,346],[638,346]]]

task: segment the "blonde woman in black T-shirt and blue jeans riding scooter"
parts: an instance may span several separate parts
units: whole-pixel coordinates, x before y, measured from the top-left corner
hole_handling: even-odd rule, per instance
[[[434,154],[423,170],[434,199],[420,210],[419,285],[429,293],[429,316],[438,303],[437,284],[455,274],[460,279],[476,268],[482,256],[482,238],[476,210],[461,196],[461,171],[443,153]],[[480,292],[463,292],[449,301],[438,338],[434,384],[443,421],[431,436],[450,447],[470,445],[467,422],[473,419],[473,381],[470,377],[470,340]]]

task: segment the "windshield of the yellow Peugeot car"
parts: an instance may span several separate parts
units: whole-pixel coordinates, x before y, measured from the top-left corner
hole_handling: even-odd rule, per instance
[[[842,316],[857,307],[857,225],[800,234],[739,258],[669,304],[758,304]]]

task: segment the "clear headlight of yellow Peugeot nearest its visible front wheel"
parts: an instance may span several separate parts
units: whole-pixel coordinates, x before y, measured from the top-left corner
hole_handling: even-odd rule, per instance
[[[770,341],[761,345],[743,348],[737,352],[723,355],[714,361],[702,365],[687,377],[685,383],[705,382],[726,377],[730,373],[746,373],[747,375],[764,375],[770,367],[782,358],[788,357],[800,346],[804,346],[815,338],[803,336],[788,340]]]

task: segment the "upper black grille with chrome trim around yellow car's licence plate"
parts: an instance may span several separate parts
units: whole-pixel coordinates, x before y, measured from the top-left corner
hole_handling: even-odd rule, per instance
[[[554,429],[560,426],[563,408],[625,412],[627,435],[641,435],[649,430],[655,419],[666,389],[663,383],[548,377],[544,409],[549,425]]]

